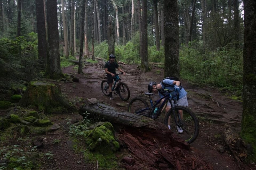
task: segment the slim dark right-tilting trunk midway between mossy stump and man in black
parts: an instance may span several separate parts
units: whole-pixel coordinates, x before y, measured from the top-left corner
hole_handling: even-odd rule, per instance
[[[83,66],[82,66],[82,61],[83,61],[83,38],[84,38],[84,33],[85,33],[85,1],[82,1],[82,10],[81,10],[81,34],[80,34],[80,51],[79,51],[79,65],[78,65],[78,74],[83,73]]]

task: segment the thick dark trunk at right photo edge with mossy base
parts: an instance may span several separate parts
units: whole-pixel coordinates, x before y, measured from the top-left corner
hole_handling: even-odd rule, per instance
[[[249,158],[256,159],[256,1],[244,1],[243,114],[241,137],[250,144]],[[248,160],[249,161],[249,160]]]

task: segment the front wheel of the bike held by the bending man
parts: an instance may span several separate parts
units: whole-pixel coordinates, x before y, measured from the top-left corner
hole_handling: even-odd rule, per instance
[[[174,117],[177,120],[177,124]],[[179,126],[183,130],[183,133],[179,133],[179,136],[188,143],[194,142],[199,134],[197,117],[189,108],[184,106],[176,106],[174,113],[170,109],[165,116],[165,125],[169,125],[169,129],[173,131],[177,131],[177,126]]]

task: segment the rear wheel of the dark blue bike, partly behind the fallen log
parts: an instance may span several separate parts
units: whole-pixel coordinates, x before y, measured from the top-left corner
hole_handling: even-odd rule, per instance
[[[151,112],[151,110],[149,110],[149,104],[144,99],[141,99],[139,97],[131,99],[127,111],[131,113],[141,114],[147,117],[150,117]]]

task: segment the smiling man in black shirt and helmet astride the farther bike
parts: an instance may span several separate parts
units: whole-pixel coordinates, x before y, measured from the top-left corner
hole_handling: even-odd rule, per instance
[[[110,54],[109,61],[107,61],[105,64],[105,72],[107,74],[107,83],[109,83],[110,100],[114,99],[112,96],[112,83],[116,74],[115,69],[117,69],[118,71],[122,72],[123,75],[125,75],[125,72],[122,69],[120,69],[120,67],[118,66],[118,63],[115,62],[114,54]]]

